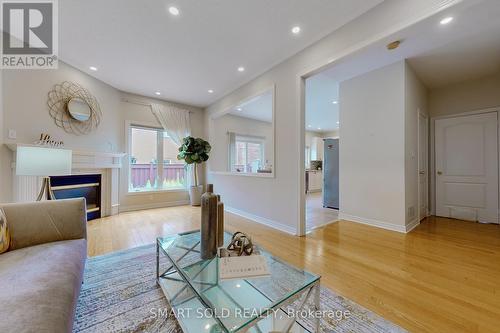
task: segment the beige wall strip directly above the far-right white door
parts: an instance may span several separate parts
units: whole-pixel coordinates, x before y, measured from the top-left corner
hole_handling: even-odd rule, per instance
[[[500,72],[429,92],[431,117],[500,106]]]

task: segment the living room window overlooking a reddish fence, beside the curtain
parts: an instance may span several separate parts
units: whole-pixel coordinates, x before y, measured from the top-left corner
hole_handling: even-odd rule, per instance
[[[129,192],[184,189],[184,162],[177,145],[159,128],[131,125]]]

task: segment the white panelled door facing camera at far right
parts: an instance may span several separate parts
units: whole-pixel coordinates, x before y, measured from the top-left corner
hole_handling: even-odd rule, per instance
[[[436,215],[498,223],[497,113],[436,120]]]

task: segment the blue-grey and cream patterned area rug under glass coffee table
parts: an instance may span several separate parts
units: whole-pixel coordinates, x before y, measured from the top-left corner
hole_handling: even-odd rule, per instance
[[[168,303],[155,280],[155,245],[146,245],[87,260],[84,284],[73,332],[181,333],[174,316],[158,316]],[[406,332],[362,306],[322,287],[322,311],[349,313],[348,318],[325,318],[323,332]],[[312,323],[304,320],[305,327]]]

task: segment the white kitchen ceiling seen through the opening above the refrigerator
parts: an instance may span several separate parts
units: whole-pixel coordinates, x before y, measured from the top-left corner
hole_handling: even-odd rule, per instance
[[[306,130],[329,132],[339,125],[338,83],[320,73],[306,80]]]

